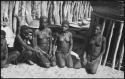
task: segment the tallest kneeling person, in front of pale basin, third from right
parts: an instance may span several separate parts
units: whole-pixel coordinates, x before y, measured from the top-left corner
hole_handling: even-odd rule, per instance
[[[44,52],[44,58],[38,57],[46,67],[55,66],[55,58],[52,58],[52,32],[48,28],[48,19],[43,16],[40,18],[40,28],[35,32],[35,46],[39,46]]]

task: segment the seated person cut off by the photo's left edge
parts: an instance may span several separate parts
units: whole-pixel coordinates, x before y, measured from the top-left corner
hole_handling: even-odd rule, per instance
[[[7,67],[9,63],[14,62],[20,54],[15,49],[8,49],[5,36],[6,32],[1,30],[1,68]]]

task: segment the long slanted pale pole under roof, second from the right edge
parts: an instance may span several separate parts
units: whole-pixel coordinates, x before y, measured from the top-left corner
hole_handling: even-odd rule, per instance
[[[120,43],[121,36],[122,36],[123,26],[124,26],[124,22],[121,23],[121,27],[120,27],[120,31],[119,31],[119,36],[118,36],[118,41],[116,43],[116,49],[115,49],[115,53],[114,53],[114,57],[113,57],[113,62],[112,62],[112,68],[113,69],[115,68],[116,55],[117,55],[119,43]]]

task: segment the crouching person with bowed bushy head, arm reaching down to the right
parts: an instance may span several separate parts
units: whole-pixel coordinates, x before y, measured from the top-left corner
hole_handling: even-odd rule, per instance
[[[34,52],[40,53],[39,50],[35,49],[33,46],[33,34],[36,30],[36,27],[33,27],[31,25],[21,25],[21,18],[17,15],[15,15],[17,18],[17,21],[19,23],[18,29],[17,29],[17,35],[15,38],[15,48],[20,51],[20,56],[18,57],[18,62],[26,62],[28,64],[33,64],[32,55]],[[34,29],[34,30],[33,30]]]

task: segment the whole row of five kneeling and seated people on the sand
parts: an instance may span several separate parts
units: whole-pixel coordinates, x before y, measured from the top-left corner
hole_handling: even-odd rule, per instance
[[[45,16],[27,21],[28,25],[21,25],[21,18],[17,15],[14,17],[19,23],[14,47],[7,46],[6,33],[1,30],[1,68],[7,67],[9,63],[37,63],[46,68],[56,65],[61,68],[81,68],[84,65],[88,73],[96,73],[106,44],[99,25],[94,27],[93,35],[87,39],[86,50],[74,64],[71,56],[73,35],[68,30],[68,21],[62,22],[62,31],[53,33]]]

